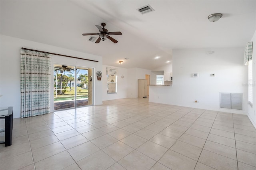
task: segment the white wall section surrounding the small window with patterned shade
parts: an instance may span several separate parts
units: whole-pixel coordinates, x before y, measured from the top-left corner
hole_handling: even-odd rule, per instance
[[[117,76],[117,93],[107,93],[107,75],[106,75],[106,67],[112,67],[118,69],[118,76]],[[114,99],[123,99],[127,98],[127,90],[128,90],[128,74],[126,68],[121,67],[113,67],[110,65],[102,65],[102,100],[114,100]],[[122,78],[124,76],[124,78]]]

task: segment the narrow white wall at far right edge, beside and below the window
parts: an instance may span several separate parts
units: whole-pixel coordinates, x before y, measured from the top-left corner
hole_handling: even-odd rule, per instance
[[[256,31],[254,32],[254,35],[252,36],[252,40],[251,40],[252,45],[252,79],[253,79],[253,87],[252,87],[252,98],[253,98],[253,105],[252,107],[250,107],[250,105],[248,105],[246,103],[246,105],[248,105],[248,117],[250,119],[250,121],[252,122],[252,124],[254,125],[254,127],[256,128]],[[248,68],[248,67],[247,67]]]

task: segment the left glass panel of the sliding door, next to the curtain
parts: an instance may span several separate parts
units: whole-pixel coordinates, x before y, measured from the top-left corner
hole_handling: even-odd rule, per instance
[[[75,107],[75,67],[54,65],[54,110]]]

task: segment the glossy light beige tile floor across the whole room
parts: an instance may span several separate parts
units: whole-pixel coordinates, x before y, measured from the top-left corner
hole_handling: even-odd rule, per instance
[[[118,99],[14,119],[1,170],[256,170],[246,115]]]

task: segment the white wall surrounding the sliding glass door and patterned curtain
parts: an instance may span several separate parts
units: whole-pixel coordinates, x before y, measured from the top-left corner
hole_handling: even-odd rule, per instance
[[[32,42],[10,36],[0,35],[0,106],[13,106],[14,118],[20,117],[20,49],[21,47],[60,53],[86,59],[97,60],[97,62],[86,61],[81,59],[70,59],[52,55],[53,63],[68,63],[69,65],[80,65],[83,67],[92,67],[95,71],[102,71],[102,57],[79,51],[64,49],[52,45],[38,42]],[[53,69],[52,69],[53,70]],[[53,72],[53,71],[52,71]],[[94,73],[95,75],[95,73]],[[95,77],[95,76],[94,76]],[[53,79],[53,75],[52,75]],[[94,83],[94,105],[102,104],[102,81]],[[53,80],[51,83],[51,111],[53,111]]]

